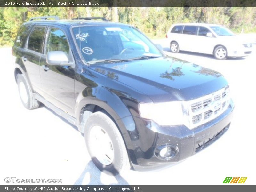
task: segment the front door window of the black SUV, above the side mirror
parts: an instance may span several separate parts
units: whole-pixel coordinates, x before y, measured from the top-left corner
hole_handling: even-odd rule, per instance
[[[65,33],[58,28],[50,28],[46,53],[50,51],[63,51],[69,53],[68,40]]]

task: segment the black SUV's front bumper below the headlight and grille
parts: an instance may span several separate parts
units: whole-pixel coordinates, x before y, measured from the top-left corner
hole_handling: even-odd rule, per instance
[[[128,133],[132,142],[132,148],[128,147],[132,167],[135,170],[154,169],[166,164],[177,163],[196,154],[228,130],[232,116],[233,106],[229,105],[228,109],[220,116],[192,130],[184,125],[159,126],[152,121],[133,116],[135,122],[133,126],[135,127],[132,128],[130,123],[130,127],[127,129],[130,130]],[[169,160],[156,156],[159,146],[166,144],[178,148],[177,154]]]

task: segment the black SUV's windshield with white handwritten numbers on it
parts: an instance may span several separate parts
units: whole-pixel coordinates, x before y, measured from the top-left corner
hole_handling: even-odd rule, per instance
[[[89,64],[126,62],[163,56],[146,36],[131,26],[73,28],[76,44]]]

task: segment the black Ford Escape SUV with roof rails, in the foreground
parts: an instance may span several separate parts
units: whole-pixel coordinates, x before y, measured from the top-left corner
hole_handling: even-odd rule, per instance
[[[21,101],[76,125],[101,171],[178,162],[229,128],[220,73],[166,56],[130,25],[48,18],[24,23],[12,48]]]

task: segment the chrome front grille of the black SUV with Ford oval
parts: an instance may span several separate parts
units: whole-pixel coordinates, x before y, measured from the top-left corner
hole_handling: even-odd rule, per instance
[[[189,127],[193,129],[216,118],[228,108],[229,102],[228,86],[209,95],[187,101]]]

